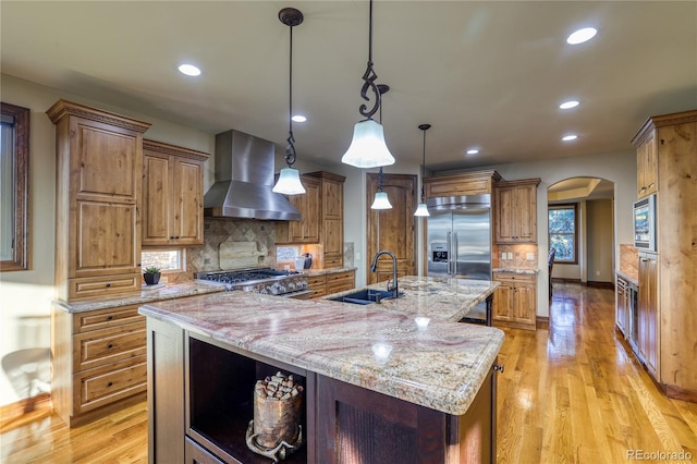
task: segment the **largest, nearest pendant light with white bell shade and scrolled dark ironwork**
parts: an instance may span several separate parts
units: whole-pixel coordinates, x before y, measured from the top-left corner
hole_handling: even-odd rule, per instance
[[[363,103],[358,112],[366,119],[356,123],[353,129],[353,139],[351,146],[341,158],[341,162],[355,166],[356,168],[378,168],[394,164],[394,157],[384,143],[382,124],[372,119],[372,115],[380,108],[380,91],[375,81],[378,75],[372,69],[372,0],[370,0],[370,23],[368,29],[368,68],[363,74],[364,84],[360,87],[360,97],[369,101],[368,89],[375,94],[372,108]]]

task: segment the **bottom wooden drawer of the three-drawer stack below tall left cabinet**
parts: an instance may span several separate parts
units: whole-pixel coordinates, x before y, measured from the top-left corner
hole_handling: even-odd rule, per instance
[[[96,410],[147,389],[147,356],[121,361],[73,376],[75,414]]]

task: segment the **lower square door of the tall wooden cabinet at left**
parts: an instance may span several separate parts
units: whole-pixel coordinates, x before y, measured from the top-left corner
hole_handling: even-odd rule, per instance
[[[140,271],[140,227],[133,204],[76,202],[71,215],[71,278]]]

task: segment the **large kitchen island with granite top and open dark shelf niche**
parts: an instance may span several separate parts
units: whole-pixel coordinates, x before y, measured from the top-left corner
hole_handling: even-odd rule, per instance
[[[256,380],[281,370],[305,386],[305,443],[288,462],[493,462],[503,333],[454,321],[497,283],[400,286],[366,306],[244,292],[142,306],[150,461],[270,462],[245,431]]]

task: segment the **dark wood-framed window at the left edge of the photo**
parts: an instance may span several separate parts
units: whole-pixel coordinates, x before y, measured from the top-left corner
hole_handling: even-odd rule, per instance
[[[0,271],[29,268],[29,110],[0,103]]]

